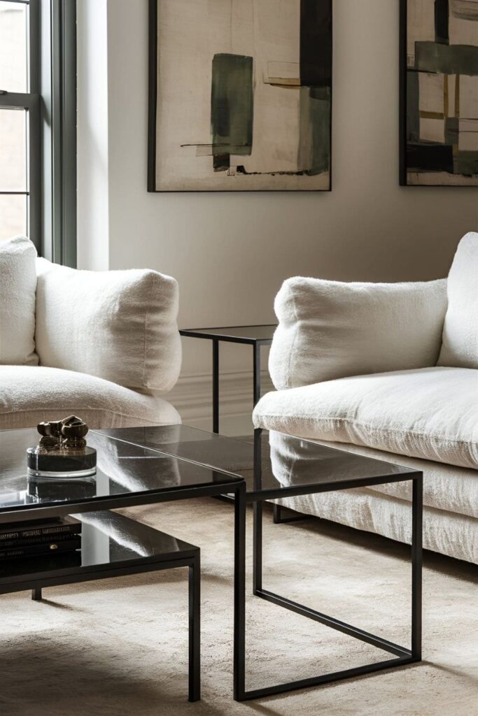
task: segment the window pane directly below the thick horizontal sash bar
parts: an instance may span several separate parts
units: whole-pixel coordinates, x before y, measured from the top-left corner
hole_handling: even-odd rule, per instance
[[[0,109],[0,191],[27,191],[25,110]]]

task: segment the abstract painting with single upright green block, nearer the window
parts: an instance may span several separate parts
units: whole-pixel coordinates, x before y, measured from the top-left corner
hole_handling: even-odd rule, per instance
[[[332,0],[150,0],[149,191],[330,190]]]

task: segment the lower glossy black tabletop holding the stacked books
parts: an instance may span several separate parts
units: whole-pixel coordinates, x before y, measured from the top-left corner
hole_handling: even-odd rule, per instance
[[[36,555],[0,561],[2,584],[38,576],[57,569],[91,571],[124,563],[191,556],[197,547],[107,510],[75,515],[82,523],[81,548],[71,552]],[[76,569],[75,569],[76,568]]]

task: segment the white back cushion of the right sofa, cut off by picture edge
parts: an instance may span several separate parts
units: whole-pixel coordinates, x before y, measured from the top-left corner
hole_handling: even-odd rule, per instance
[[[448,276],[448,309],[438,364],[478,368],[478,233],[460,241]]]

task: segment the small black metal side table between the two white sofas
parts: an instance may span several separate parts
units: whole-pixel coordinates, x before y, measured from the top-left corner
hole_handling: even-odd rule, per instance
[[[245,343],[253,347],[254,406],[261,397],[261,348],[272,343],[277,324],[181,329],[181,336],[212,341],[212,432],[219,432],[219,342]]]

